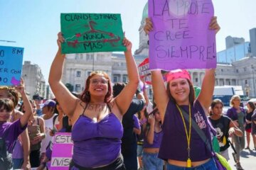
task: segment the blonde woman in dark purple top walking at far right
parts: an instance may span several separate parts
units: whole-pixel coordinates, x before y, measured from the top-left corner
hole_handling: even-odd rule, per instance
[[[242,170],[242,166],[240,164],[240,152],[245,148],[245,109],[240,107],[241,99],[240,96],[234,95],[230,99],[231,108],[227,111],[227,116],[234,121],[235,125],[240,128],[242,131],[242,136],[238,137],[237,135],[233,135],[232,140],[235,144],[235,150],[237,154],[235,155],[236,168]]]

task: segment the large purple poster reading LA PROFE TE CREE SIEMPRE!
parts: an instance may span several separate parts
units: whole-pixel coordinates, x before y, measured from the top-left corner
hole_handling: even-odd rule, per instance
[[[215,31],[211,0],[149,0],[150,69],[216,67]]]

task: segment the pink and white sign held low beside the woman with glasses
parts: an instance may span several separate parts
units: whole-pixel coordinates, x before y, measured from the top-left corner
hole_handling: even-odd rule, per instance
[[[51,170],[68,170],[73,155],[71,133],[57,132],[54,136]]]

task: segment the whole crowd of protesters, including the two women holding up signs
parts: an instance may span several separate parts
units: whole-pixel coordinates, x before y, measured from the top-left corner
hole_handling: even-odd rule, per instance
[[[149,33],[152,29],[147,18],[144,30]],[[220,30],[215,17],[210,29]],[[29,100],[22,79],[14,88],[0,87],[0,169],[47,169],[55,132],[71,132],[70,170],[218,169],[213,149],[194,125],[209,141],[216,132],[225,159],[230,159],[228,147],[235,145],[233,158],[238,170],[242,170],[240,152],[245,148],[245,135],[246,149],[250,149],[250,136],[256,149],[255,103],[248,102],[244,109],[240,97],[233,96],[231,108],[223,115],[222,101],[212,100],[215,69],[206,69],[200,93],[195,93],[184,69],[166,74],[166,84],[161,70],[152,70],[151,102],[146,84],[139,79],[132,42],[124,38],[129,82],[112,86],[106,72],[92,72],[85,90],[74,95],[61,81],[64,41],[58,33],[58,52],[48,79],[55,98],[43,100],[36,94]],[[138,89],[139,81],[143,86]]]

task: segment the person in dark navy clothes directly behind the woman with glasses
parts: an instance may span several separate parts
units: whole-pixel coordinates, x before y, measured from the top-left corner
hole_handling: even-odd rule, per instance
[[[113,86],[114,98],[118,96],[126,85],[124,83],[116,83]],[[137,163],[137,135],[134,133],[133,115],[138,111],[142,111],[145,104],[145,99],[139,90],[136,91],[138,99],[133,99],[132,103],[122,118],[122,126],[124,134],[122,136],[121,153],[124,157],[124,165],[126,169],[138,169]],[[139,99],[140,98],[140,99]]]

